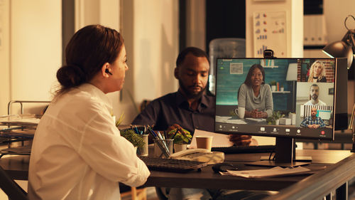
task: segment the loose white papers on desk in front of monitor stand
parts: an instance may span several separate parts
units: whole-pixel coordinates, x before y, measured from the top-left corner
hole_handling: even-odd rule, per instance
[[[236,177],[244,178],[267,178],[267,177],[284,177],[288,175],[295,174],[307,174],[310,169],[305,167],[293,167],[293,168],[282,168],[273,167],[271,169],[257,169],[257,170],[244,170],[244,171],[232,171],[227,170],[227,172],[219,172],[222,175],[231,175]]]

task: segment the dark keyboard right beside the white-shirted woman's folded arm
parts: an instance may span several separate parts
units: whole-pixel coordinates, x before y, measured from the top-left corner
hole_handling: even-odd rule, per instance
[[[207,162],[184,159],[165,159],[157,157],[139,157],[148,169],[165,172],[189,172],[207,166]]]

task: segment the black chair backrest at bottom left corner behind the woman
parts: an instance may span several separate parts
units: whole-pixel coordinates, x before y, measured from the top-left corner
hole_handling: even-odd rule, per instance
[[[0,167],[0,188],[9,199],[27,200],[27,193]]]

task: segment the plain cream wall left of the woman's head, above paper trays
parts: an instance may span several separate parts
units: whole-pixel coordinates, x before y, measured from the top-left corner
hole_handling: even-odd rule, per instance
[[[61,1],[3,0],[0,9],[0,115],[6,115],[9,100],[51,99],[62,59]]]

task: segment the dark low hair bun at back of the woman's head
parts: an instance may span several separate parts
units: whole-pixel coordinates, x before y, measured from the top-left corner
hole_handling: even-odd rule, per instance
[[[57,71],[57,79],[63,88],[72,88],[86,81],[85,73],[77,65],[63,65]]]

